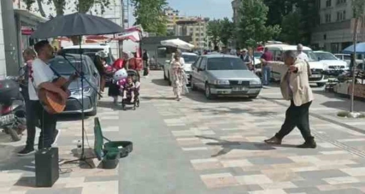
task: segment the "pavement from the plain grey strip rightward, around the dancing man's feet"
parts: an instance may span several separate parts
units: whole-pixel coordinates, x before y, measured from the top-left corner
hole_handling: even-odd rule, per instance
[[[262,141],[278,131],[287,109],[279,88],[255,100],[207,101],[191,92],[177,102],[161,78],[152,72],[141,108],[121,113],[120,135],[135,151],[121,162],[120,193],[365,193],[365,120],[326,119],[346,99],[314,89],[317,149],[295,148],[303,142],[297,129],[270,146]],[[346,128],[355,123],[361,131]]]

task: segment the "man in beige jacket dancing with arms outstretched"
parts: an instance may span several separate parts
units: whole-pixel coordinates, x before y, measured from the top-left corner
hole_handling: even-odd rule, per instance
[[[290,100],[291,103],[280,131],[265,142],[280,145],[282,139],[298,127],[305,139],[305,142],[298,147],[316,148],[317,145],[309,127],[309,107],[313,100],[313,93],[309,86],[307,63],[298,58],[294,51],[286,51],[283,58],[288,71],[282,77],[281,91],[284,99]]]

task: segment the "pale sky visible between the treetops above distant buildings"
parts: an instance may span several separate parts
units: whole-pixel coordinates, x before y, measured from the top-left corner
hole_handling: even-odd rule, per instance
[[[233,17],[231,2],[232,0],[167,0],[169,7],[180,11],[179,15],[202,16],[211,20],[224,17],[231,20]],[[131,24],[134,21],[134,18],[131,17]]]

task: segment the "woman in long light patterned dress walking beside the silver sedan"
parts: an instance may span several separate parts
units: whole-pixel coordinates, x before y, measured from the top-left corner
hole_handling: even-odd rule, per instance
[[[173,93],[176,96],[176,100],[181,100],[181,95],[188,93],[188,78],[184,72],[185,61],[184,58],[181,57],[181,51],[177,50],[171,60],[171,69],[170,72],[172,75],[172,88]]]

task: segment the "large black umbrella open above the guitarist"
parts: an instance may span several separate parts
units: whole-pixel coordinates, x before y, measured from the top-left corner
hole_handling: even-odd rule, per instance
[[[84,35],[106,35],[123,32],[121,26],[98,16],[74,13],[58,16],[40,24],[32,38],[46,39]]]

